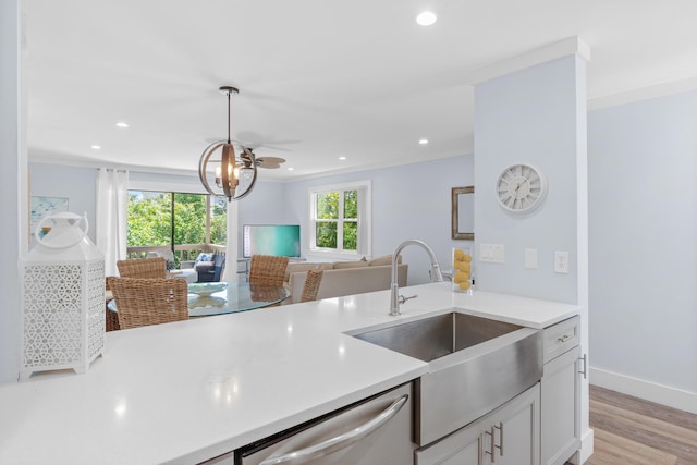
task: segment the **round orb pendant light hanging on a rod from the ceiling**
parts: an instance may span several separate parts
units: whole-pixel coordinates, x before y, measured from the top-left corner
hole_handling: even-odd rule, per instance
[[[228,197],[231,201],[252,192],[257,180],[257,162],[246,147],[240,146],[235,154],[230,138],[230,97],[240,90],[222,86],[220,91],[228,96],[228,139],[215,142],[204,150],[198,162],[198,178],[209,194]]]

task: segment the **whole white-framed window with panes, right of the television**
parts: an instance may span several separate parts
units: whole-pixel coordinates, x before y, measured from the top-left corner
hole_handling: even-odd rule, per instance
[[[370,184],[313,187],[309,248],[314,253],[369,255]]]

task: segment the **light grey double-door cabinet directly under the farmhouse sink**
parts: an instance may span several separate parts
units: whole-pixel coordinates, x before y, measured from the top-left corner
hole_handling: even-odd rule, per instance
[[[416,451],[416,465],[539,464],[539,383],[493,412]]]

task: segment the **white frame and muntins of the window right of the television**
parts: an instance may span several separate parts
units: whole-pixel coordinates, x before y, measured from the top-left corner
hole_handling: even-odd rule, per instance
[[[345,191],[357,191],[357,240],[356,250],[343,249],[343,193]],[[339,216],[337,218],[337,245],[341,247],[326,248],[317,247],[317,194],[326,194],[331,192],[340,193]],[[371,256],[372,254],[372,212],[371,212],[371,182],[357,181],[351,183],[329,184],[321,186],[313,186],[308,188],[309,215],[308,215],[308,234],[307,246],[313,255],[321,255],[327,258],[353,258],[358,259],[362,256]],[[353,219],[350,219],[353,220]],[[319,220],[326,221],[326,220]]]

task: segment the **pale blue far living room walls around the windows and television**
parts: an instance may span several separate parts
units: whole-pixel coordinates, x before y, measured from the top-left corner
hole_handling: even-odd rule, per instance
[[[96,169],[41,163],[32,163],[30,169],[32,195],[69,197],[71,211],[87,211],[94,221]],[[260,176],[264,176],[264,171]],[[451,238],[451,188],[474,184],[472,155],[293,183],[259,181],[254,191],[237,204],[239,244],[242,243],[244,224],[301,224],[303,255],[316,259],[308,256],[307,250],[308,188],[365,180],[372,185],[374,257],[392,254],[402,241],[420,238],[435,249],[442,268],[449,269],[451,248],[472,245],[470,241]],[[195,175],[132,172],[130,184],[163,191],[200,191]],[[430,261],[427,255],[411,247],[402,255],[409,264],[409,284],[428,282]]]

